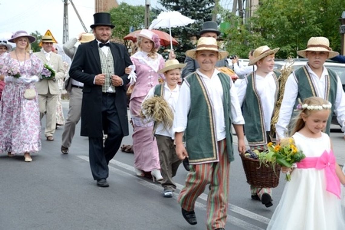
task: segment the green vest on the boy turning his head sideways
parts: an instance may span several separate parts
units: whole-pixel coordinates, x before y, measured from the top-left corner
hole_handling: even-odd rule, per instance
[[[275,102],[279,97],[279,76],[280,73],[274,71],[273,77],[277,88],[275,93]],[[245,120],[244,130],[248,144],[250,146],[267,144],[263,105],[261,103],[259,93],[256,90],[256,78],[254,72],[247,76],[247,90],[245,100],[243,102],[243,117]]]

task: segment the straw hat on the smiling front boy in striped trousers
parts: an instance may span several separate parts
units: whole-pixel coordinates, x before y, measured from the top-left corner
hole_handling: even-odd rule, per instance
[[[211,51],[216,51],[220,55],[220,59],[224,59],[228,56],[228,52],[224,50],[219,50],[218,49],[218,44],[217,40],[212,38],[212,37],[201,37],[198,40],[198,44],[196,49],[193,50],[187,50],[186,55],[188,57],[191,57],[193,59],[196,59],[196,52],[201,51],[201,50],[211,50]]]

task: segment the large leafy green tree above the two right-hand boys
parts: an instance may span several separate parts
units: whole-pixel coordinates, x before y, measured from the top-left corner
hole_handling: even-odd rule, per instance
[[[231,24],[227,31],[227,50],[235,49],[247,55],[252,48],[268,45],[280,47],[278,58],[296,57],[298,50],[306,48],[310,37],[324,36],[339,51],[338,18],[344,9],[344,0],[262,0],[244,25],[239,23],[242,19],[223,12],[222,19]]]

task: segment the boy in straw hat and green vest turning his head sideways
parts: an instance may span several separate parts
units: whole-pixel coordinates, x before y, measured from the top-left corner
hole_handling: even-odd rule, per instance
[[[253,52],[248,66],[256,64],[257,70],[250,73],[237,88],[238,100],[243,105],[246,138],[251,150],[265,150],[273,140],[271,119],[278,99],[279,72],[273,71],[274,56],[279,50],[260,46]],[[272,206],[272,189],[250,186],[252,199],[260,200],[266,207]]]

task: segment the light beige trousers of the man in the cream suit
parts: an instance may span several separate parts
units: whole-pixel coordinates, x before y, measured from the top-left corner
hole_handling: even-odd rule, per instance
[[[41,120],[46,113],[46,128],[44,130],[46,137],[53,136],[56,129],[56,106],[58,98],[59,95],[51,94],[49,89],[47,94],[38,94]]]

